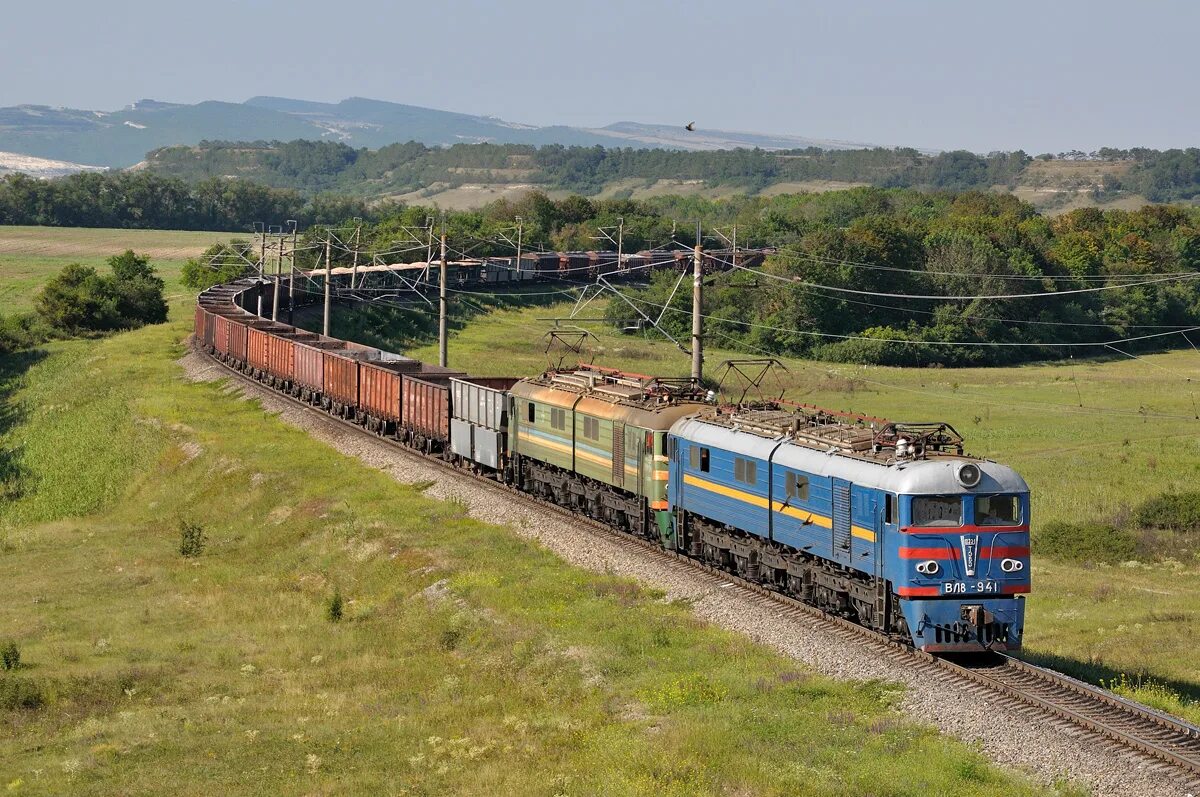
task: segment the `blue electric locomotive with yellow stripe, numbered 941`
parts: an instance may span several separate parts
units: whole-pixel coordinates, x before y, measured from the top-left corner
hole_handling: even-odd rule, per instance
[[[679,550],[924,651],[1020,648],[1028,487],[953,427],[714,407],[668,447]]]

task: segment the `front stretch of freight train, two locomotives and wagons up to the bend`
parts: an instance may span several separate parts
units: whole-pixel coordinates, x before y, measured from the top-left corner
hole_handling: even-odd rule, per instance
[[[196,341],[380,436],[931,653],[1015,651],[1030,491],[948,424],[769,402],[595,365],[479,378],[200,294]]]

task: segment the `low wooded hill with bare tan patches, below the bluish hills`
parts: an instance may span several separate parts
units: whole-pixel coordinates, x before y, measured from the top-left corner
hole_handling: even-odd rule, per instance
[[[1025,152],[928,154],[914,149],[598,149],[524,144],[377,150],[335,142],[204,142],[168,146],[142,168],[199,182],[238,179],[373,200],[479,208],[536,187],[552,197],[775,196],[860,185],[1013,193],[1046,211],[1200,200],[1200,150],[1102,150],[1031,158]]]

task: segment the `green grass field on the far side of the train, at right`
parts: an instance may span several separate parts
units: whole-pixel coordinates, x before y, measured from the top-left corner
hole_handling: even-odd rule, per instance
[[[542,353],[550,324],[539,318],[569,311],[562,305],[488,316],[451,338],[450,364],[479,374],[542,370],[560,355]],[[592,352],[605,365],[688,373],[689,358],[670,343],[588,328],[599,338]],[[437,349],[410,354],[436,361]],[[709,350],[708,373],[733,356],[745,355]],[[1110,519],[1147,497],[1195,489],[1200,353],[967,370],[784,362],[779,386],[790,398],[898,420],[946,420],[970,451],[1020,472],[1033,495],[1027,655],[1105,683],[1122,673],[1127,681],[1148,677],[1168,689],[1151,685],[1139,697],[1200,720],[1200,706],[1192,703],[1200,699],[1200,561],[1187,555],[1084,567],[1038,556],[1038,529],[1048,521]]]

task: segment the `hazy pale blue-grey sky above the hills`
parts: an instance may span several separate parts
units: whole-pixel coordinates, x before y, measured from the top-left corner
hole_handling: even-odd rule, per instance
[[[937,149],[1200,145],[1200,2],[8,0],[0,104],[364,96]]]

